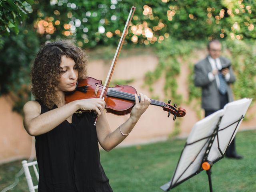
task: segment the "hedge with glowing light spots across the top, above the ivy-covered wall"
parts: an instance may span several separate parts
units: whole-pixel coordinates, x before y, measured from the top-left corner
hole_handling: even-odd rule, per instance
[[[51,0],[35,1],[30,22],[42,40],[75,38],[79,46],[117,44],[132,6],[127,41],[154,44],[177,39],[255,38],[255,1]]]

